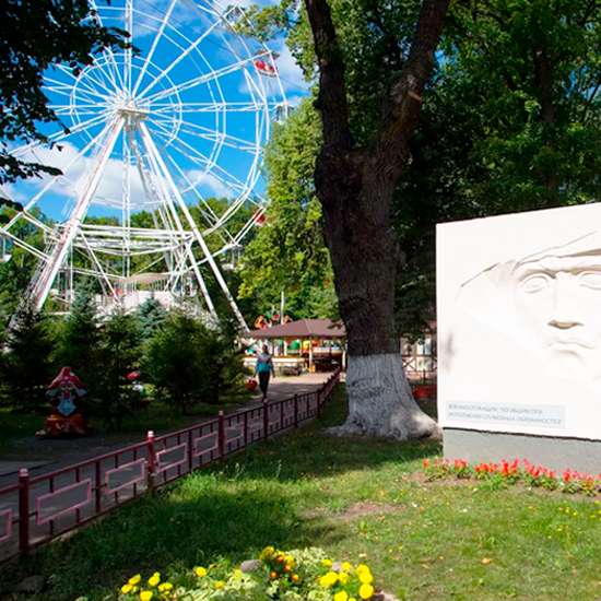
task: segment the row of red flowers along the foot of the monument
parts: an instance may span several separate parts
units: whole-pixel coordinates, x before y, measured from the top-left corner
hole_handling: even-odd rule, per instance
[[[598,475],[565,470],[557,473],[543,466],[530,463],[527,459],[503,460],[498,463],[469,464],[464,459],[424,459],[424,473],[429,481],[445,478],[460,480],[484,480],[499,484],[521,482],[528,486],[563,493],[584,493],[594,496],[601,493],[601,473]]]

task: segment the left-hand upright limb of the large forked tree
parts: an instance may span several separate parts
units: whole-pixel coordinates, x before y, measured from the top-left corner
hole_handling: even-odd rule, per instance
[[[338,45],[327,0],[305,0],[319,64],[319,94],[315,103],[321,114],[323,151],[347,152],[352,149],[349,104],[344,83],[344,61]]]

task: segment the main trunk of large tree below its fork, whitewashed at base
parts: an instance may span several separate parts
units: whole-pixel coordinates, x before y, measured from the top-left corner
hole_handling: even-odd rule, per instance
[[[331,182],[331,166],[326,172]],[[316,184],[327,196],[332,188],[320,173]],[[437,434],[438,426],[415,403],[400,355],[394,320],[399,249],[389,217],[393,190],[369,175],[364,174],[361,186],[368,196],[351,185],[343,202],[339,197],[339,202],[323,204],[325,237],[349,345],[349,417],[333,433],[421,438]]]

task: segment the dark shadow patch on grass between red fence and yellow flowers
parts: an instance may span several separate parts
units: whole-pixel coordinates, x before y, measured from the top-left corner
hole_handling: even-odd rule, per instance
[[[42,549],[16,567],[4,566],[2,593],[26,576],[42,574],[48,588],[31,599],[106,599],[137,573],[150,576],[168,566],[166,577],[181,575],[220,557],[234,563],[256,557],[274,541],[294,549],[323,538],[338,540],[331,526],[300,518],[275,486],[239,494],[215,479],[192,476]]]

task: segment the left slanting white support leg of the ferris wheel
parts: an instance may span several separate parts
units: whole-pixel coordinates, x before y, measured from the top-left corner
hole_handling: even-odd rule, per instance
[[[55,249],[50,254],[48,261],[42,270],[37,282],[34,284],[33,291],[31,293],[31,299],[37,310],[39,310],[46,302],[46,298],[48,297],[48,293],[50,292],[60,266],[63,263],[67,252],[69,251],[69,248],[71,247],[78,234],[81,222],[87,213],[87,209],[90,208],[92,198],[96,189],[98,188],[98,184],[101,182],[101,176],[104,172],[106,163],[110,156],[110,153],[113,152],[113,148],[115,146],[115,142],[117,141],[117,138],[119,137],[122,127],[123,120],[117,119],[111,125],[111,127],[108,128],[109,133],[106,145],[97,155],[96,165],[93,172],[90,174],[90,178],[83,190],[83,193],[80,196],[75,208],[73,209],[73,212],[71,213],[71,216],[69,217],[69,221],[67,222],[67,225],[62,231],[60,239],[58,240]]]

